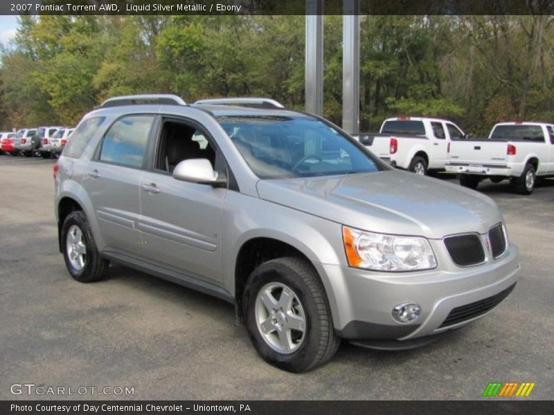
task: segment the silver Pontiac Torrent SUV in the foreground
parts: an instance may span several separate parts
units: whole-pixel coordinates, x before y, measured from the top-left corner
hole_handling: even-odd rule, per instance
[[[514,288],[492,199],[388,167],[329,122],[268,99],[111,98],[54,167],[60,252],[235,304],[272,365],[307,371],[339,339],[424,344]]]

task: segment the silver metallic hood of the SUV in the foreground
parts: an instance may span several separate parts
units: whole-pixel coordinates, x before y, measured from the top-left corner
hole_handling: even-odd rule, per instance
[[[502,220],[490,197],[400,170],[260,180],[260,199],[361,230],[441,239]]]

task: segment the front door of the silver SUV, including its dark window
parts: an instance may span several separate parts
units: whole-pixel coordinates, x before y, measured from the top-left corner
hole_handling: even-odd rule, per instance
[[[163,118],[152,166],[141,178],[144,256],[152,264],[222,284],[222,221],[226,189],[179,181],[182,160],[207,158],[215,170],[226,164],[206,130],[193,120]]]

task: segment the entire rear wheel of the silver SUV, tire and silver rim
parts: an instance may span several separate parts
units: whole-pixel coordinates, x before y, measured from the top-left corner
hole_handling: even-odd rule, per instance
[[[71,212],[62,225],[62,250],[67,270],[79,282],[104,278],[109,261],[100,257],[87,216]]]

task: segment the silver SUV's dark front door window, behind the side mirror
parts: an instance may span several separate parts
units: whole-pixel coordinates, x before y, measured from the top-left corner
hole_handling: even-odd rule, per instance
[[[204,132],[186,122],[164,120],[154,169],[172,173],[181,161],[207,158],[216,169],[215,148]]]

